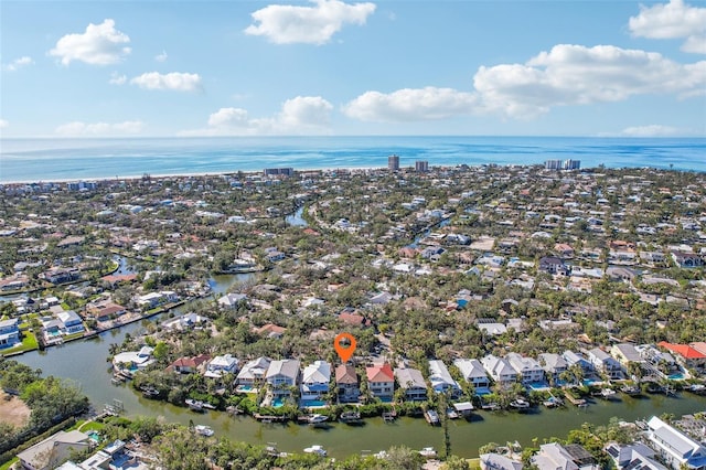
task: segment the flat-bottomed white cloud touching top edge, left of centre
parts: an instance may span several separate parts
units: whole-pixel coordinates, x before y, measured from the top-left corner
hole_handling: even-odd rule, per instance
[[[252,13],[255,23],[246,34],[266,36],[276,44],[325,44],[345,23],[365,24],[375,3],[347,4],[339,0],[312,0],[314,7],[270,4]]]

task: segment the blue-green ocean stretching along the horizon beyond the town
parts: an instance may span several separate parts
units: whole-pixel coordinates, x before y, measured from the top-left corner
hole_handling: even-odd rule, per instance
[[[194,173],[387,167],[542,164],[706,172],[705,138],[597,137],[233,137],[1,139],[0,182],[97,180]]]

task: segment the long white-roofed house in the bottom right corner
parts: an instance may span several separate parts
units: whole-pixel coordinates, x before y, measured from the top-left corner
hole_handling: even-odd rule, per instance
[[[706,469],[706,447],[656,416],[648,421],[648,439],[660,458],[674,470]]]

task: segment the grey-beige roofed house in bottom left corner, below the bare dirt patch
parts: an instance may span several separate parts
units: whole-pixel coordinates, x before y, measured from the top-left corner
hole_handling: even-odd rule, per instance
[[[23,469],[51,470],[68,460],[73,452],[90,448],[88,435],[78,431],[58,431],[18,453]]]

